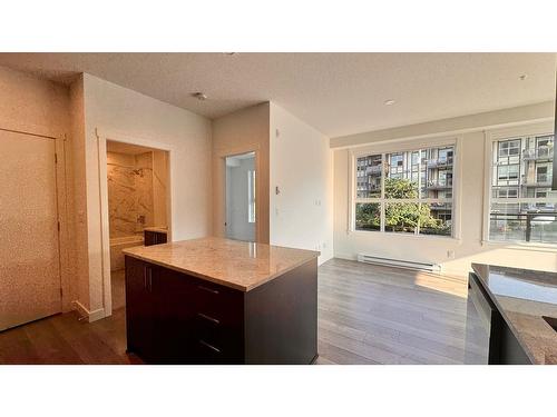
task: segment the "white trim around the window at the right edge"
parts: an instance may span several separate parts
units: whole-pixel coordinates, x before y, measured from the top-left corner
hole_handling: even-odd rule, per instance
[[[537,242],[525,242],[520,240],[490,240],[489,239],[489,211],[491,207],[491,201],[496,202],[512,202],[508,198],[497,198],[494,199],[491,197],[491,179],[492,179],[492,169],[491,169],[491,160],[492,160],[492,151],[494,151],[494,142],[497,140],[504,139],[512,139],[512,138],[521,138],[525,136],[544,136],[544,135],[553,135],[555,129],[553,121],[544,121],[544,122],[526,122],[524,125],[515,126],[511,128],[505,129],[494,129],[494,130],[485,130],[483,131],[483,219],[481,226],[481,245],[482,246],[492,246],[498,248],[508,248],[508,249],[522,249],[522,250],[541,250],[541,251],[550,251],[557,252],[557,245],[551,244],[537,244]],[[555,141],[554,141],[555,143]],[[524,198],[520,201],[534,200]],[[539,199],[537,199],[539,201]]]

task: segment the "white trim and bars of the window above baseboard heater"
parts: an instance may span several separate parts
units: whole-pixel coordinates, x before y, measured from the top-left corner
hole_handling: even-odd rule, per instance
[[[404,238],[416,238],[416,239],[433,239],[436,241],[450,240],[450,241],[461,241],[461,216],[460,216],[460,201],[461,201],[461,178],[462,178],[462,136],[450,136],[450,137],[436,137],[436,138],[420,138],[411,139],[408,141],[392,141],[382,142],[378,145],[370,145],[365,147],[358,147],[349,149],[349,198],[348,198],[348,225],[346,235],[350,234],[380,234],[381,236],[401,236]],[[397,153],[404,151],[414,151],[417,149],[428,149],[428,148],[440,148],[443,146],[455,147],[455,155],[452,159],[452,198],[438,198],[428,199],[430,202],[452,202],[452,236],[432,236],[432,235],[416,235],[416,234],[397,234],[392,231],[384,230],[384,203],[381,205],[381,230],[356,230],[355,229],[355,205],[356,202],[370,202],[370,199],[356,198],[356,159],[359,157],[364,157],[369,155],[378,153]],[[381,176],[381,196],[384,195],[384,175]],[[392,199],[377,198],[372,202],[384,202],[385,200],[392,201]],[[422,202],[423,199],[400,199],[397,202]]]

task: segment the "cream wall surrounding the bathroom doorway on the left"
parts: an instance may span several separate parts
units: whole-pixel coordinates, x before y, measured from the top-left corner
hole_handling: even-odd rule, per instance
[[[89,75],[84,75],[84,100],[89,310],[95,311],[102,308],[96,129],[172,149],[172,238],[182,240],[211,235],[211,121]]]

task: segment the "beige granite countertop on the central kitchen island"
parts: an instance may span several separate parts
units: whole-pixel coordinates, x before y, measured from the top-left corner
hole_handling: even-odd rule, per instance
[[[242,291],[250,291],[320,255],[313,250],[215,237],[138,246],[123,252]]]

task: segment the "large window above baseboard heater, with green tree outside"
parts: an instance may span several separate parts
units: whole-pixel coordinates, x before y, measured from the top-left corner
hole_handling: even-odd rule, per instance
[[[453,145],[358,156],[353,228],[452,236],[453,157]]]

